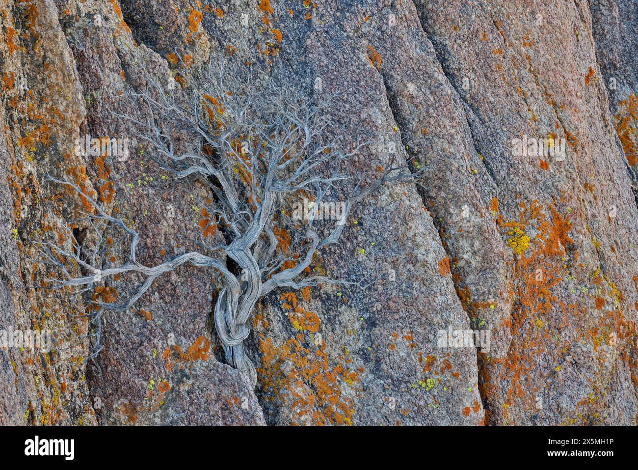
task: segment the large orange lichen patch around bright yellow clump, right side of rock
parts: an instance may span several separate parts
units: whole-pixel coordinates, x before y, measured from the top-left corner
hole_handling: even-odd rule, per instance
[[[619,310],[602,310],[605,301],[600,295],[600,289],[600,299],[597,295],[588,294],[585,287],[581,287],[578,292],[571,289],[572,294],[588,298],[591,307],[582,305],[580,301],[565,301],[569,297],[565,297],[564,287],[560,284],[565,282],[566,277],[567,282],[574,282],[569,264],[575,263],[574,260],[577,259],[574,241],[570,237],[572,225],[554,204],[543,209],[538,201],[529,205],[521,202],[519,207],[519,221],[503,224],[503,228],[516,228],[533,234],[533,237],[530,236],[526,252],[514,259],[513,280],[508,292],[513,311],[511,320],[504,322],[512,333],[512,341],[507,358],[489,358],[480,369],[479,390],[481,396],[493,404],[491,419],[498,416],[497,422],[505,424],[512,422],[509,414],[512,411],[516,412],[517,418],[514,419],[521,419],[521,413],[538,413],[535,402],[538,394],[547,386],[544,383],[545,377],[560,372],[558,364],[565,361],[564,358],[572,347],[571,342],[561,341],[555,332],[561,331],[568,324],[574,324],[574,317],[579,317],[576,323],[590,317],[588,310],[594,307],[591,304],[595,304],[595,308],[602,314],[596,315],[596,324],[577,330],[575,341],[582,344],[589,341],[596,351],[599,345],[609,341],[611,332],[616,333],[619,339],[635,334],[621,332],[621,325],[626,322]],[[606,281],[609,295],[618,302],[621,294],[611,281]],[[597,283],[602,284],[600,278],[592,282]],[[629,327],[627,331],[635,332],[635,329]],[[549,361],[553,365],[546,371],[540,370],[539,374],[539,361],[545,364]],[[496,375],[492,377],[491,374]],[[596,384],[592,383],[591,386],[595,390]],[[577,405],[579,406],[592,407],[588,412],[590,418],[600,412],[600,409],[595,409],[596,404],[587,400]]]

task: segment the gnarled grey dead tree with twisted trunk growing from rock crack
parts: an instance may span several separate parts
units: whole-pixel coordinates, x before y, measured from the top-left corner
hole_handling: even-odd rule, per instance
[[[413,180],[420,172],[397,165],[394,156],[389,155],[378,179],[366,185],[363,178],[348,173],[347,166],[370,142],[359,142],[344,149],[343,133],[334,129],[327,117],[332,98],[308,98],[310,93],[306,89],[277,86],[272,81],[232,89],[226,85],[224,76],[223,72],[216,73],[211,88],[188,105],[182,104],[181,96],[181,102],[178,100],[177,93],[167,93],[157,82],[149,80],[147,91],[129,95],[147,105],[151,110],[149,120],[119,117],[141,129],[137,139],[147,143],[155,154],[154,160],[170,171],[175,181],[197,180],[210,188],[212,204],[205,206],[210,215],[209,223],[202,227],[202,232],[221,231],[223,237],[219,238],[223,241],[207,248],[232,259],[240,272],[233,272],[219,256],[200,252],[184,253],[157,266],[145,266],[137,261],[136,248],[140,240],[137,231],[123,220],[108,215],[78,186],[51,176],[48,176],[50,182],[66,186],[93,206],[93,213],[87,213],[85,220],[98,233],[98,245],[103,243],[99,233],[107,225],[117,227],[130,239],[128,260],[117,266],[104,266],[99,247],[91,254],[82,255],[79,249],[68,251],[55,243],[43,242],[40,252],[41,261],[59,268],[59,277],[49,280],[48,287],[52,289],[73,286],[92,291],[97,284],[125,273],[137,273],[144,278],[124,303],[91,300],[100,307],[99,312],[102,308],[128,309],[156,278],[182,264],[216,269],[223,281],[214,307],[216,331],[226,361],[241,370],[254,388],[255,367],[244,352],[243,341],[249,335],[248,321],[258,299],[278,287],[302,289],[327,283],[362,285],[361,280],[334,280],[306,275],[304,271],[308,271],[306,268],[315,253],[339,240],[354,204],[384,183]],[[175,153],[172,129],[195,136],[196,148]],[[346,191],[346,188],[349,189]],[[311,210],[302,232],[297,234],[297,239],[303,242],[299,252],[286,257],[277,250],[274,215],[285,201],[304,195],[317,207],[329,195],[344,192],[347,195],[338,220],[328,226],[316,220],[316,212]],[[74,243],[78,245],[77,241]],[[75,261],[84,269],[84,275],[72,275],[61,259]],[[99,318],[96,335],[99,346]]]

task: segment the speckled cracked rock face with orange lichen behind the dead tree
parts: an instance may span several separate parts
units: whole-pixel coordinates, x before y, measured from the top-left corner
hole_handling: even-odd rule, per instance
[[[0,348],[0,424],[635,424],[635,1],[1,9],[0,330],[51,331],[54,345]],[[337,94],[326,112],[345,145],[373,140],[351,172],[373,181],[388,153],[425,172],[357,204],[314,265],[378,282],[260,301],[245,340],[255,390],[223,363],[212,269],[182,266],[127,312],[104,312],[104,347],[89,357],[85,298],[43,289],[34,263],[33,241],[55,233],[50,209],[68,220],[83,204],[46,174],[95,191],[134,226],[140,262],[197,249],[189,206],[208,188],[162,185],[141,141],[114,158],[76,155],[75,142],[132,139],[140,128],[121,116],[154,119],[134,96],[149,80],[198,100],[209,64],[222,63]],[[516,139],[545,151],[516,151]],[[125,249],[114,240],[107,255]],[[84,296],[125,296],[135,282]],[[298,328],[299,311],[318,328]],[[441,345],[450,330],[489,333],[489,347]]]

